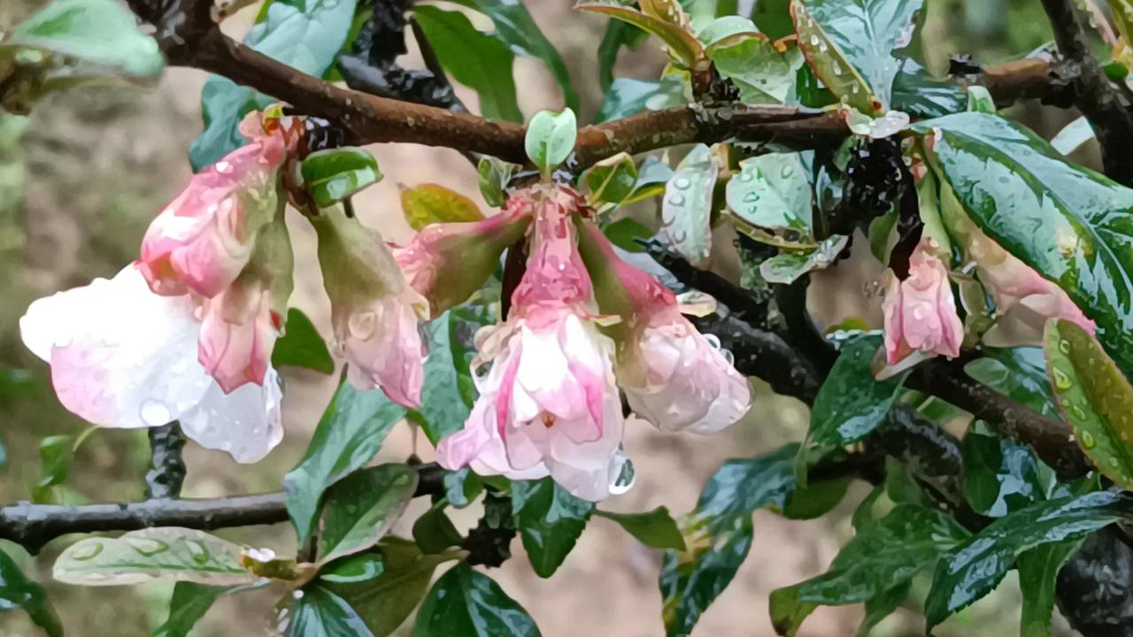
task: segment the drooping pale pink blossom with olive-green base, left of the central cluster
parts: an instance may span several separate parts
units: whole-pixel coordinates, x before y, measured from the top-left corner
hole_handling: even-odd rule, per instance
[[[417,325],[428,317],[428,301],[406,284],[377,231],[341,207],[321,211],[312,223],[347,379],[360,390],[382,388],[391,400],[419,407],[425,353]]]

